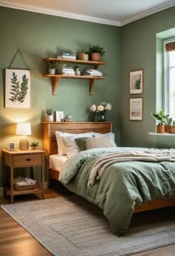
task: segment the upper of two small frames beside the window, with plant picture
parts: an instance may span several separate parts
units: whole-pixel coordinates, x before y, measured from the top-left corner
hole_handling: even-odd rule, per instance
[[[134,70],[130,72],[130,94],[143,93],[143,70]]]

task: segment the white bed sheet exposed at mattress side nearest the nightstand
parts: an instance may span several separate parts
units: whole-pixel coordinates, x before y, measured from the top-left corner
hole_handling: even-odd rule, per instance
[[[62,166],[67,161],[67,156],[59,156],[58,154],[50,155],[49,168],[62,172]]]

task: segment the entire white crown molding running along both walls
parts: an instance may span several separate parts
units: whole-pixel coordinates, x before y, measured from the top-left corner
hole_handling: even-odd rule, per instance
[[[175,0],[167,1],[165,4],[160,4],[160,5],[153,7],[149,10],[145,10],[142,13],[137,13],[136,15],[131,16],[128,19],[123,19],[122,21],[113,21],[110,19],[100,19],[100,18],[96,18],[93,16],[85,16],[85,15],[81,15],[78,13],[67,13],[67,12],[62,12],[59,10],[45,9],[42,7],[34,7],[29,4],[18,4],[18,3],[14,3],[11,1],[6,1],[6,0],[1,0],[0,6],[9,7],[9,8],[13,8],[13,9],[19,9],[19,10],[27,10],[27,11],[30,11],[33,13],[43,13],[43,14],[47,14],[47,15],[51,15],[51,16],[59,16],[59,17],[64,17],[64,18],[68,18],[68,19],[78,19],[78,20],[85,21],[85,22],[94,22],[94,23],[108,24],[108,25],[112,25],[112,26],[122,27],[125,24],[134,22],[138,19],[142,19],[146,16],[149,16],[153,13],[157,13],[161,10],[165,10],[165,9],[175,6]]]

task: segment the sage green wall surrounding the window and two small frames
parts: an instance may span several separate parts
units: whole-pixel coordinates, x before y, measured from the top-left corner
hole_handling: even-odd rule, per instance
[[[122,79],[121,79],[121,145],[157,148],[174,147],[175,137],[149,135],[156,131],[151,112],[162,107],[162,39],[175,35],[167,33],[175,27],[175,7],[140,19],[121,27]],[[172,32],[172,30],[171,30]],[[130,95],[129,75],[131,70],[144,70],[144,92]],[[156,98],[157,94],[157,98]],[[129,121],[129,99],[143,97],[143,120]]]

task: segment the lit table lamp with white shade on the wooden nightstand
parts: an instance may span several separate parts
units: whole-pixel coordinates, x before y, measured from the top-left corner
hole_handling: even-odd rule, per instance
[[[31,135],[30,122],[17,123],[16,135],[22,135],[22,139],[19,141],[19,149],[29,149],[29,141],[26,135]]]

